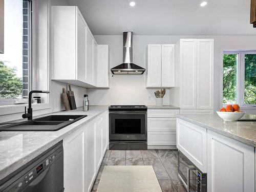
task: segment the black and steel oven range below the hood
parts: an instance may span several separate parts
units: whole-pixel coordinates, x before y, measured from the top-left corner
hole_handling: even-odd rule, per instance
[[[147,150],[147,107],[109,107],[110,150]]]

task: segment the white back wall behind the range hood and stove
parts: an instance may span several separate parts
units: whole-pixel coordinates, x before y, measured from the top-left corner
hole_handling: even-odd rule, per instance
[[[110,68],[122,63],[122,35],[95,35],[98,44],[108,44],[110,48]],[[249,49],[256,50],[256,36],[133,36],[133,62],[141,67],[146,66],[147,44],[175,44],[180,38],[214,38],[214,109],[222,105],[222,57],[223,50]],[[90,103],[101,104],[155,104],[154,91],[145,89],[145,74],[114,75],[110,78],[110,89],[88,89]],[[164,104],[169,104],[169,94]],[[148,100],[148,95],[152,96]],[[249,111],[248,111],[249,112]],[[253,113],[256,113],[255,110]]]

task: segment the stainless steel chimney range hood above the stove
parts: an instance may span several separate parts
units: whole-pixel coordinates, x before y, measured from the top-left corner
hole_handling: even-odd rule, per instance
[[[133,63],[133,32],[123,32],[123,63],[111,69],[113,74],[143,74],[145,69]]]

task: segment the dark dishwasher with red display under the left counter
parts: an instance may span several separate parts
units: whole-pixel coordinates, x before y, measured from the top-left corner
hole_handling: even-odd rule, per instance
[[[62,141],[0,181],[2,192],[62,192]]]

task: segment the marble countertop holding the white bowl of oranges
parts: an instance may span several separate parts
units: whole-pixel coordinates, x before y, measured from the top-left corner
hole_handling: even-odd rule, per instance
[[[176,116],[177,118],[256,147],[256,115],[245,114],[241,121],[224,121],[217,114]]]

